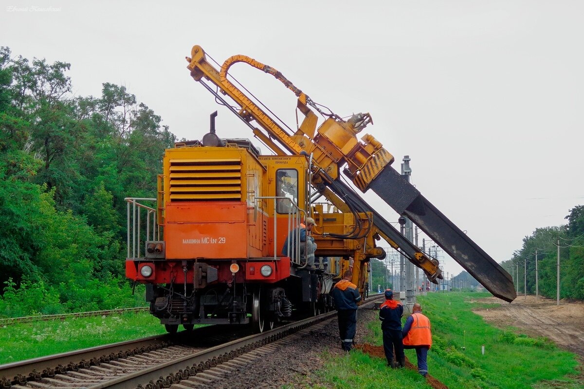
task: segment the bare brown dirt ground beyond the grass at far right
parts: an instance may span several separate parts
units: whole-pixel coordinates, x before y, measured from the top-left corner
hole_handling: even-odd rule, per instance
[[[519,296],[511,304],[496,297],[482,299],[484,303],[501,303],[500,307],[475,309],[475,313],[499,328],[509,325],[520,328],[532,337],[546,337],[559,346],[584,358],[584,303],[536,296]]]

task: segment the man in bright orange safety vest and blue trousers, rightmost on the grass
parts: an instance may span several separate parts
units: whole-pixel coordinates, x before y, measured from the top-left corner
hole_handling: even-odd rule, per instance
[[[405,322],[402,335],[404,336],[404,348],[416,349],[418,373],[426,377],[426,374],[428,374],[426,360],[428,350],[432,346],[432,332],[430,320],[422,314],[422,306],[420,304],[413,304],[412,314]]]

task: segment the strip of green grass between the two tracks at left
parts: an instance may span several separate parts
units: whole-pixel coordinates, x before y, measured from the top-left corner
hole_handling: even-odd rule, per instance
[[[165,332],[147,312],[5,325],[0,327],[0,365]]]

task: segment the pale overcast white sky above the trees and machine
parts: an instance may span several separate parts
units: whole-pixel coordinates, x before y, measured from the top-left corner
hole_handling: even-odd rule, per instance
[[[251,132],[194,82],[184,57],[246,54],[318,103],[369,112],[369,133],[411,157],[412,183],[496,261],[584,203],[584,2],[7,0],[0,45],[71,63],[75,93],[125,85],[179,138]],[[54,12],[40,8],[54,8]],[[27,10],[23,10],[27,9]],[[232,73],[295,125],[271,76]],[[259,142],[255,142],[259,144]],[[266,152],[266,148],[262,146]],[[397,215],[374,194],[388,220]],[[421,246],[420,236],[420,246]],[[451,259],[445,272],[461,268]]]

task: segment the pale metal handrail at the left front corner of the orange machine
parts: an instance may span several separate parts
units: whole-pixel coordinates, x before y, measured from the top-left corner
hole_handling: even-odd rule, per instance
[[[156,209],[140,204],[138,201],[157,201],[155,198],[145,198],[145,197],[126,197],[124,200],[127,202],[127,247],[128,253],[127,258],[141,258],[140,257],[140,229],[141,229],[141,218],[140,215],[144,210],[146,212],[146,239],[150,238],[150,232],[152,230],[152,240],[160,240],[160,229],[157,229],[157,217]],[[131,212],[130,212],[131,205]],[[152,215],[152,219],[150,218]],[[152,229],[150,229],[150,223],[152,220]],[[131,235],[131,239],[130,239]],[[132,254],[130,257],[130,253]],[[144,247],[144,257],[146,256],[146,248]]]

